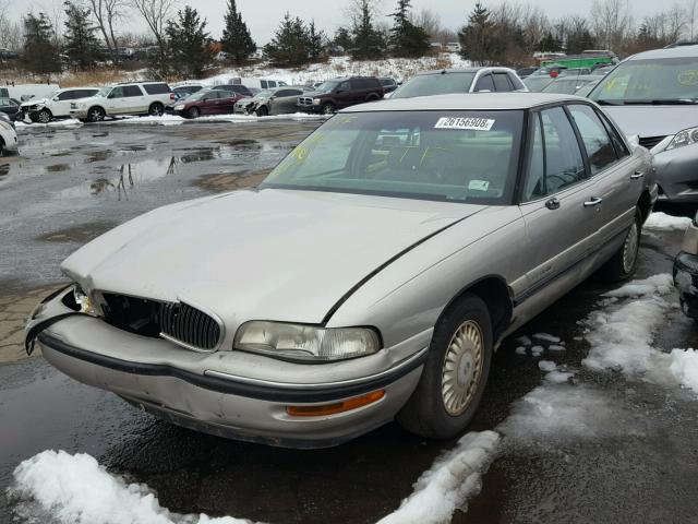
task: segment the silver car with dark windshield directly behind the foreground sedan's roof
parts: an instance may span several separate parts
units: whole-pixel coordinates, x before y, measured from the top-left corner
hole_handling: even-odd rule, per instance
[[[395,98],[444,95],[449,93],[528,91],[508,68],[465,68],[424,71],[416,74],[390,95]]]

